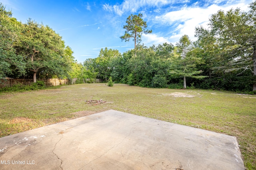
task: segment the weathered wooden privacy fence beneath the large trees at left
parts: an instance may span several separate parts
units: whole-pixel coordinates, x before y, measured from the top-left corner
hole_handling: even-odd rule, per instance
[[[12,87],[14,85],[26,86],[32,84],[33,79],[25,78],[4,78],[0,80],[0,88]],[[47,78],[43,79],[46,86],[58,86],[63,84],[68,84],[68,79],[59,79],[59,78]]]

